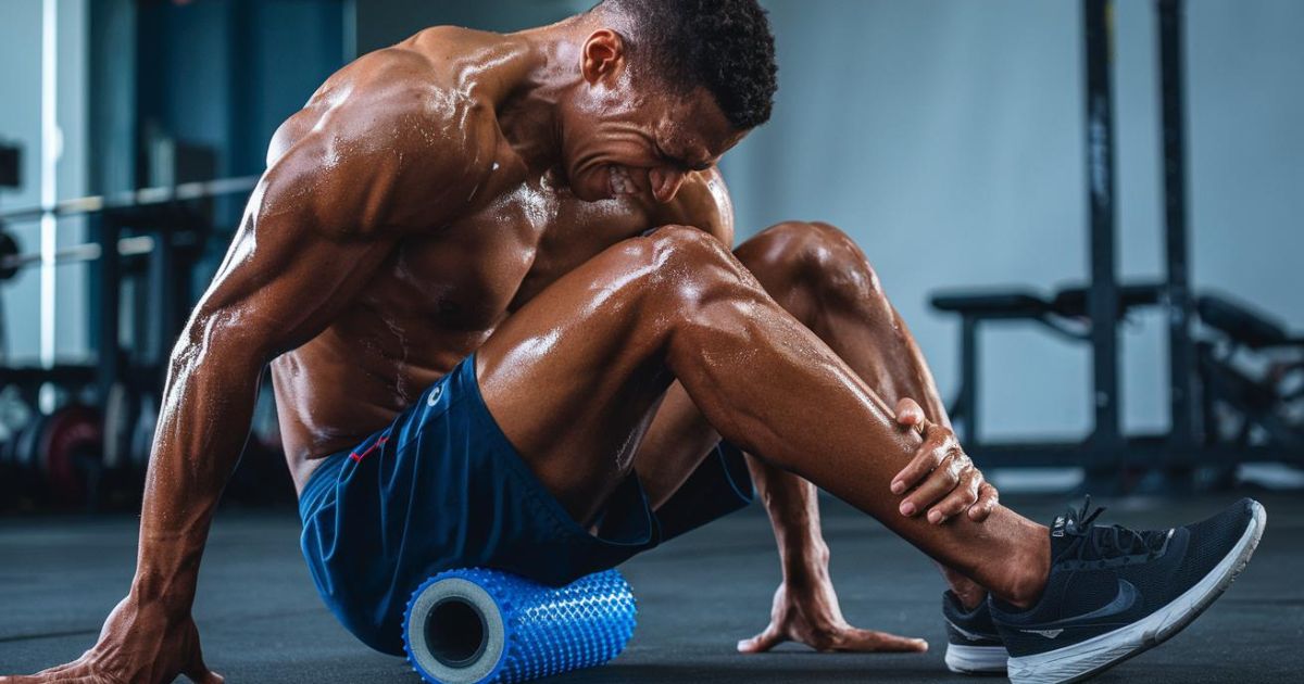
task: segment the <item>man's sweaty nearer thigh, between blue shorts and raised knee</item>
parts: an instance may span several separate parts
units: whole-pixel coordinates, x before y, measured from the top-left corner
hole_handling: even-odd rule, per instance
[[[630,472],[673,382],[668,323],[648,315],[648,238],[622,242],[545,288],[476,352],[484,401],[539,479],[588,521]]]

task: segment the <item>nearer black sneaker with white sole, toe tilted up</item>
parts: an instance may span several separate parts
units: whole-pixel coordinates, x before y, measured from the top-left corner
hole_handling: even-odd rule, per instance
[[[1249,563],[1266,512],[1241,499],[1204,522],[1157,532],[1093,525],[1069,509],[1051,529],[1051,572],[1028,611],[990,599],[1015,684],[1078,681],[1176,634]]]

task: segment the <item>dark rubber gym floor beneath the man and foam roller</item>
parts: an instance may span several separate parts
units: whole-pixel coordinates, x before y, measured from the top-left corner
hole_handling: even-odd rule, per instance
[[[1241,494],[1098,503],[1110,507],[1106,521],[1162,528],[1210,515]],[[1304,500],[1248,494],[1269,513],[1249,568],[1183,633],[1095,681],[1300,681]],[[1048,521],[1069,500],[1005,503]],[[0,520],[0,672],[48,667],[94,642],[130,580],[136,521]],[[765,625],[778,580],[769,526],[754,506],[627,563],[622,569],[639,599],[629,649],[605,667],[548,681],[971,681],[943,664],[943,585],[930,562],[838,502],[824,502],[824,529],[848,619],[925,637],[927,654],[816,654],[795,645],[734,653],[738,638]],[[210,667],[231,683],[419,681],[404,661],[370,651],[334,621],[308,578],[297,534],[288,508],[218,515],[194,608]]]

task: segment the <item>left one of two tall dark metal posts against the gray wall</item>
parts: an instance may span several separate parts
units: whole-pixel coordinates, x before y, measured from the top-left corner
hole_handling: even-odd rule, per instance
[[[1084,0],[1086,43],[1086,181],[1090,216],[1093,384],[1097,449],[1121,444],[1119,430],[1118,275],[1114,203],[1114,3]],[[1101,453],[1101,451],[1097,451]]]

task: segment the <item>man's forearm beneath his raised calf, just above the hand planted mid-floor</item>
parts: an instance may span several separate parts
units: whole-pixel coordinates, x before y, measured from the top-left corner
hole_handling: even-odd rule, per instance
[[[784,581],[827,577],[828,545],[824,543],[824,534],[820,530],[819,495],[815,485],[750,455],[747,466],[756,492],[769,513]]]

